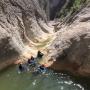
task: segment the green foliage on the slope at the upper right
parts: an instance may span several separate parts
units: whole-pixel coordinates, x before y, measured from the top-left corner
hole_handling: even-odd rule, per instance
[[[68,14],[78,11],[88,0],[70,0],[67,6],[57,13],[56,17],[64,18]]]

